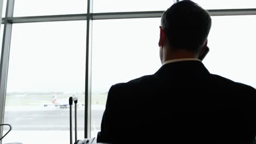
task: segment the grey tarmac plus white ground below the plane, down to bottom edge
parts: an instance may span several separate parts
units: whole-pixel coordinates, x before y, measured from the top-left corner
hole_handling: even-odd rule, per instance
[[[104,105],[91,107],[91,137],[96,137],[97,132],[100,131],[104,107]],[[61,109],[56,106],[7,106],[4,123],[11,124],[13,129],[4,137],[3,143],[69,143],[69,107]],[[4,128],[5,132],[7,130],[8,127]],[[81,105],[78,106],[78,139],[83,138],[84,106]]]

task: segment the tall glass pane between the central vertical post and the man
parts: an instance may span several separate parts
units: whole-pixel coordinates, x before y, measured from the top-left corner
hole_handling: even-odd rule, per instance
[[[109,88],[160,67],[160,19],[97,20],[92,35],[92,137],[100,131]]]

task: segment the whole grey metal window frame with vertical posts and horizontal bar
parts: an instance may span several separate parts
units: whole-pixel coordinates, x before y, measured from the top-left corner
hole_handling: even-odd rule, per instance
[[[4,107],[5,107],[5,97],[6,97],[6,87],[7,87],[6,85],[7,85],[8,64],[9,64],[10,40],[11,40],[11,27],[13,23],[86,20],[87,26],[86,26],[86,55],[85,55],[86,71],[85,71],[85,95],[84,95],[85,97],[84,138],[90,137],[91,136],[92,21],[93,20],[110,20],[110,19],[154,18],[154,17],[161,17],[164,11],[92,13],[93,0],[87,0],[88,8],[85,14],[13,17],[14,1],[15,0],[8,1],[5,17],[2,18],[1,16],[2,24],[4,24],[2,57],[1,57],[1,65],[0,65],[0,86],[1,86],[0,87],[0,119],[1,119],[1,122],[3,123],[3,119],[4,119]],[[173,0],[173,1],[178,2],[179,0]],[[2,8],[1,4],[2,2],[0,2],[0,8]],[[211,14],[211,16],[256,15],[256,9],[212,9],[208,11]],[[2,132],[3,132],[3,128],[1,127],[0,128],[1,136],[2,136]],[[0,141],[0,144],[1,143],[2,142]]]

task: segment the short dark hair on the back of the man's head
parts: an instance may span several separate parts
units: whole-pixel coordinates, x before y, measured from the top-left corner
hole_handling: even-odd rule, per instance
[[[199,52],[208,37],[212,20],[198,4],[184,0],[164,12],[161,26],[174,49]]]

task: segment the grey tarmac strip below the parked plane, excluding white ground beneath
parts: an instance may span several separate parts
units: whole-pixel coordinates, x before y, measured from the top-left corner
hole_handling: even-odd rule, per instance
[[[74,124],[74,108],[73,108]],[[92,106],[92,130],[100,129],[104,106]],[[84,106],[77,110],[78,130],[84,130]],[[20,106],[6,107],[4,123],[13,126],[13,130],[69,130],[69,107]]]

